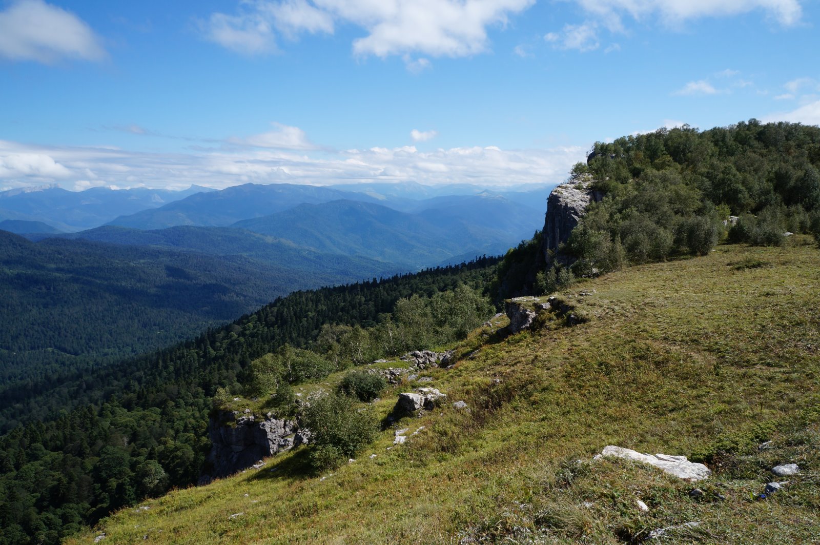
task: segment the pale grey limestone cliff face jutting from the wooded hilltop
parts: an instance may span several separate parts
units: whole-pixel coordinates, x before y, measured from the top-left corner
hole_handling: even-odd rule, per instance
[[[590,189],[592,177],[586,174],[573,176],[558,185],[547,199],[547,214],[544,218],[544,258],[552,263],[558,246],[567,242],[569,234],[586,213],[586,207],[599,202],[603,195]]]

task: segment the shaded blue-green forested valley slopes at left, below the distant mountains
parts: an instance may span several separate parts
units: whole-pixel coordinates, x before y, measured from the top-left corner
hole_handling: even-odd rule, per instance
[[[238,235],[233,242],[243,234],[264,238],[229,231]],[[216,246],[210,231],[203,237]],[[193,245],[193,238],[185,240]],[[294,289],[395,272],[369,259],[282,244],[279,263],[237,255],[244,247],[235,247],[233,255],[214,255],[204,245],[197,252],[90,240],[33,243],[0,231],[0,431],[43,418],[48,406],[69,406],[71,396],[49,393],[45,404],[37,396],[89,367],[193,337]]]

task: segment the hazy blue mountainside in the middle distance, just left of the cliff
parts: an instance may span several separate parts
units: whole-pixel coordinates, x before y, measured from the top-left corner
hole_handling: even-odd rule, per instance
[[[352,200],[300,204],[263,218],[236,222],[232,227],[322,252],[423,267],[454,255],[503,254],[531,236],[543,222],[543,213],[527,213],[526,208],[502,197],[454,199],[441,203],[440,208],[417,213]]]

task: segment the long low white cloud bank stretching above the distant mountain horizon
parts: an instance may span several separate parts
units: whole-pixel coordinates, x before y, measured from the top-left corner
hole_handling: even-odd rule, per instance
[[[246,182],[329,185],[365,181],[418,181],[435,185],[557,183],[585,149],[505,150],[462,147],[421,152],[415,146],[316,153],[274,148],[235,148],[197,153],[139,153],[113,148],[43,147],[0,140],[0,188],[57,181],[91,185],[167,187],[191,184],[224,188]],[[12,156],[43,156],[21,163]],[[13,170],[7,163],[14,165]],[[30,164],[34,163],[34,164]],[[28,164],[28,167],[22,167]],[[35,165],[39,164],[38,167]],[[48,176],[48,165],[53,165]],[[28,169],[28,170],[26,170]],[[26,172],[36,173],[28,176]]]

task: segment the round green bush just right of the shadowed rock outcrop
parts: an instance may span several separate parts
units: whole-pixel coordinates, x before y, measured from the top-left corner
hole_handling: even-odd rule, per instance
[[[356,410],[353,400],[333,392],[313,397],[299,421],[311,431],[311,463],[316,469],[331,469],[373,440],[376,419],[370,411]]]

